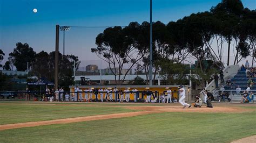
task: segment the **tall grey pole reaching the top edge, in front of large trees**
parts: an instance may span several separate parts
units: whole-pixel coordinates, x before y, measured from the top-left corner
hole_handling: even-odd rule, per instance
[[[150,86],[152,86],[152,0],[150,0],[150,65],[149,65],[149,80]]]

